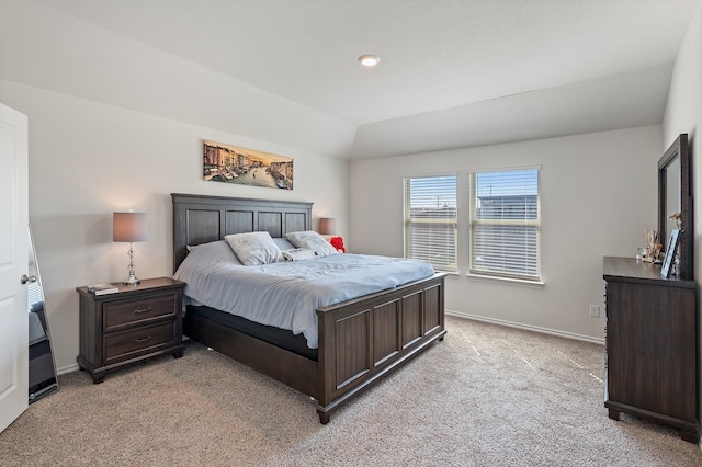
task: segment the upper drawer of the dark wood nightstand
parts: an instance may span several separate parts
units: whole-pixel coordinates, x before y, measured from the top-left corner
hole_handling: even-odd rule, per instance
[[[173,293],[135,300],[107,303],[103,306],[103,332],[111,332],[135,322],[176,316],[178,295]]]

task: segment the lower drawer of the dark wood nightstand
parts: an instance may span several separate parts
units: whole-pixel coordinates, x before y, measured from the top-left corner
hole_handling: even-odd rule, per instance
[[[177,322],[145,326],[133,331],[104,337],[105,364],[128,358],[138,353],[154,352],[160,346],[178,343]]]

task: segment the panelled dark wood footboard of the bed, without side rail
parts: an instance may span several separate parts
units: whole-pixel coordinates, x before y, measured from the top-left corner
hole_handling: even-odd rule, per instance
[[[340,405],[443,339],[444,278],[435,274],[317,310],[321,423]]]

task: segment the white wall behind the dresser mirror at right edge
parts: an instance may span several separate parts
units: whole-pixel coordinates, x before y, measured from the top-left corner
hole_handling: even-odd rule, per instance
[[[664,117],[664,147],[667,148],[681,133],[688,134],[692,155],[692,200],[694,201],[694,275],[698,283],[698,317],[702,287],[702,149],[698,137],[702,125],[702,3],[692,16],[673,68]],[[698,320],[698,335],[702,335],[702,320]],[[698,338],[702,354],[702,340]],[[698,362],[698,368],[700,363]],[[698,401],[702,400],[702,372],[698,371]],[[699,403],[699,402],[698,402]],[[698,424],[702,420],[702,403],[698,407]]]

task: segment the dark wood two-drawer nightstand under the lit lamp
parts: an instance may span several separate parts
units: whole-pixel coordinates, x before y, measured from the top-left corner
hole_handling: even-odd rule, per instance
[[[80,296],[80,369],[94,384],[105,374],[166,353],[183,355],[182,301],[185,283],[170,277],[143,280],[139,285],[113,284],[113,294]]]

